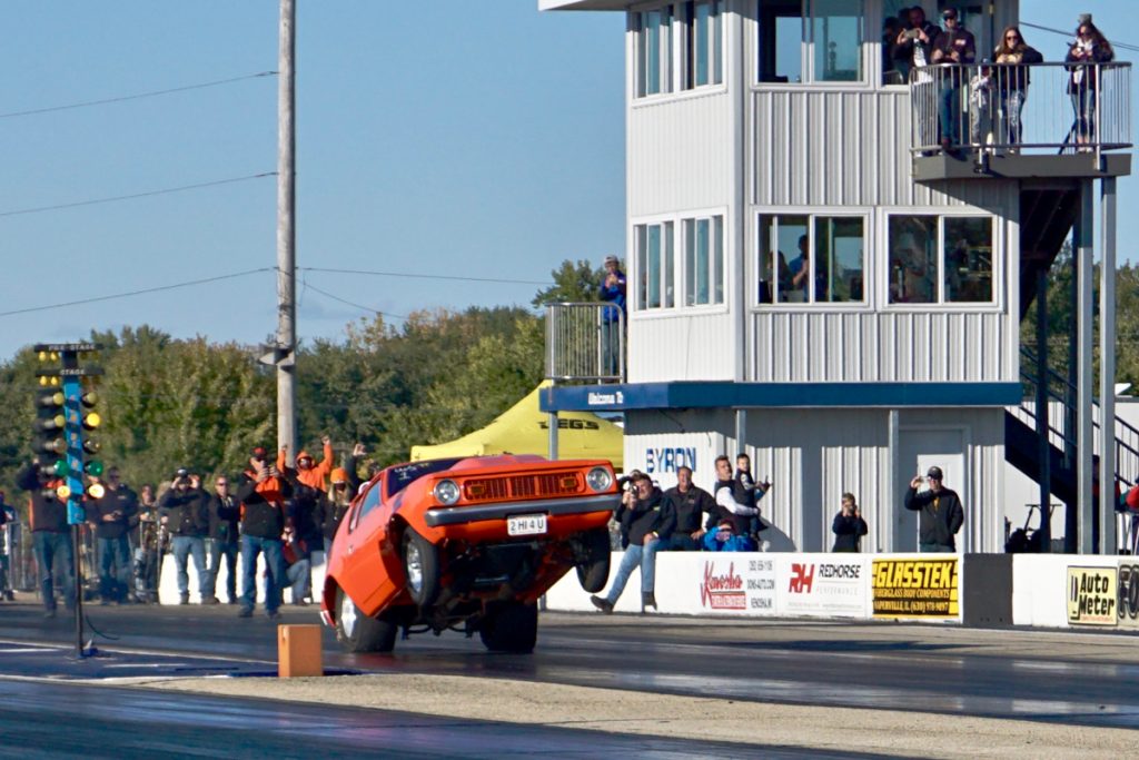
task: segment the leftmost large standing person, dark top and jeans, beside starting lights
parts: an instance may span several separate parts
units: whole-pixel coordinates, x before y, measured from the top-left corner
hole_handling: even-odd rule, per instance
[[[55,489],[63,484],[49,476],[40,466],[39,458],[25,467],[16,484],[31,493],[28,523],[32,529],[32,550],[35,553],[35,569],[40,578],[40,595],[43,598],[46,618],[56,616],[56,579],[63,588],[67,611],[75,608],[75,565],[71,531],[67,524],[67,504],[56,498]],[[60,575],[54,574],[56,563]]]

